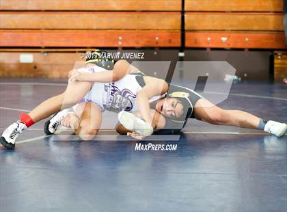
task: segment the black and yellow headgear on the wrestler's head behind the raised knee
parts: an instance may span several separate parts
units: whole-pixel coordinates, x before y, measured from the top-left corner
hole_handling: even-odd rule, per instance
[[[96,49],[94,52],[87,55],[87,59],[85,60],[85,64],[96,64],[101,68],[105,68],[107,70],[113,70],[113,65],[115,61],[111,58],[111,53],[107,51],[103,51],[100,49]]]

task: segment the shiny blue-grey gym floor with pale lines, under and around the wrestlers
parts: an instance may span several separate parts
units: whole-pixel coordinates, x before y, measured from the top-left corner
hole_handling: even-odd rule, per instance
[[[1,78],[1,131],[64,88]],[[219,106],[287,122],[286,86],[236,83]],[[139,141],[113,131],[80,142],[70,132],[46,136],[43,125],[20,135],[15,150],[0,146],[0,211],[287,211],[286,135],[189,120],[179,140],[153,142],[177,150],[136,151]]]

